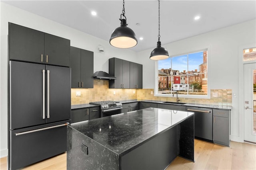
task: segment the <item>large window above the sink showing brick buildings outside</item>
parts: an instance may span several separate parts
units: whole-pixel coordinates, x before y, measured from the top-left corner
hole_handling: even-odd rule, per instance
[[[208,95],[208,50],[173,56],[158,61],[157,71],[167,73],[165,80],[168,86],[158,88],[157,94],[172,94],[177,91],[181,95]],[[158,75],[159,78],[163,76]],[[168,77],[166,79],[166,77]],[[159,83],[159,81],[158,81]]]

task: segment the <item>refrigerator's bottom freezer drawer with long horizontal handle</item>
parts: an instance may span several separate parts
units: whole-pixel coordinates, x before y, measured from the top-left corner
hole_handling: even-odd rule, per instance
[[[67,121],[10,130],[10,170],[20,169],[66,152],[67,127],[65,123]],[[64,126],[55,127],[56,125]],[[38,131],[33,132],[34,130]]]

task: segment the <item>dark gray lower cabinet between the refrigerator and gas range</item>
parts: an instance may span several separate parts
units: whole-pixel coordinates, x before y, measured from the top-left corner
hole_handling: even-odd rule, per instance
[[[71,110],[71,123],[100,118],[100,107]]]

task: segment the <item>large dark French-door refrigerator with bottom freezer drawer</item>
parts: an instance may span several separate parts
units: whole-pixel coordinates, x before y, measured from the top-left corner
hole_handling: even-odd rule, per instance
[[[66,151],[71,114],[68,67],[10,61],[8,168]]]

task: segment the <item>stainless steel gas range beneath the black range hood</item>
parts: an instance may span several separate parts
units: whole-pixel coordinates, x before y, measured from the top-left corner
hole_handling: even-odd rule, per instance
[[[100,117],[116,115],[122,110],[122,103],[115,101],[90,102],[90,104],[100,105]]]

